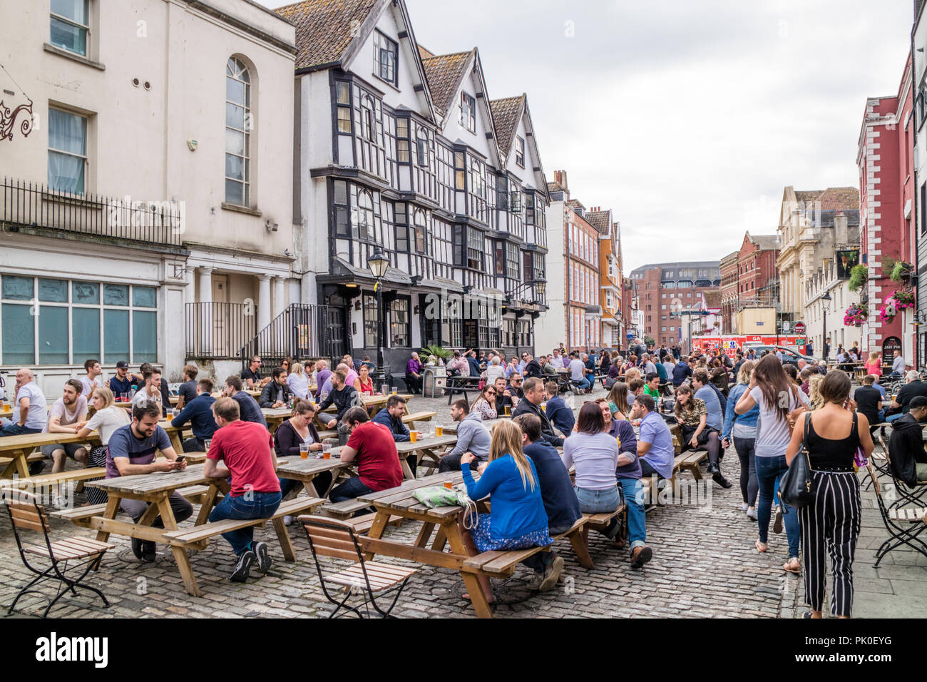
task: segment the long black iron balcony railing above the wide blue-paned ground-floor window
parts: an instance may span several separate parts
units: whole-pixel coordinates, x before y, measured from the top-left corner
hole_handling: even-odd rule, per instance
[[[180,246],[184,206],[176,201],[133,201],[128,197],[71,194],[41,183],[0,180],[0,223],[42,227],[146,244]]]

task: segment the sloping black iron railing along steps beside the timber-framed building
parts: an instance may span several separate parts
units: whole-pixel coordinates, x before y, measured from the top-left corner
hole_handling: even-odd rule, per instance
[[[296,360],[340,357],[344,349],[343,323],[333,322],[331,307],[291,304],[241,347],[242,368],[254,355],[260,355],[263,367],[277,367],[287,356]]]

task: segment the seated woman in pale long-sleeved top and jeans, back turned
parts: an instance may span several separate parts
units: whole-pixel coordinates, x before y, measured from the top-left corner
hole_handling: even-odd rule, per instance
[[[565,440],[564,454],[560,458],[567,471],[576,467],[574,489],[580,509],[601,514],[618,508],[621,504],[616,476],[618,444],[615,436],[605,432],[605,420],[599,405],[584,403],[579,409],[577,432]],[[627,457],[622,463],[629,464]],[[620,530],[620,523],[613,519],[600,532],[614,540]]]

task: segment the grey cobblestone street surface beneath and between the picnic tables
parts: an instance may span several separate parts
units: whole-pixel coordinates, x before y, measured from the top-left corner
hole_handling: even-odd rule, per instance
[[[579,400],[579,399],[575,399]],[[449,423],[447,399],[413,400],[416,410],[438,411],[438,421]],[[577,405],[578,406],[578,405]],[[802,594],[801,580],[781,571],[785,536],[771,534],[769,552],[760,555],[753,547],[756,527],[741,511],[736,485],[737,457],[732,452],[723,462],[732,483],[724,490],[714,483],[691,495],[690,504],[654,508],[647,515],[648,543],[654,560],[641,571],[629,567],[628,555],[601,536],[590,534],[595,568],[578,565],[569,543],[557,544],[565,560],[563,582],[544,594],[527,591],[526,568],[507,581],[494,581],[497,617],[794,617]],[[684,475],[683,481],[692,481]],[[710,491],[707,493],[706,491]],[[78,504],[83,495],[78,496]],[[874,508],[871,493],[864,494],[863,530],[857,549],[856,615],[915,616],[927,612],[927,560],[912,551],[895,550],[878,569],[872,568],[874,548],[886,537]],[[187,521],[191,522],[191,521]],[[52,520],[56,537],[93,536],[70,523]],[[90,584],[99,587],[112,602],[103,609],[83,595],[63,598],[52,615],[57,617],[136,616],[325,616],[330,606],[319,587],[305,534],[298,524],[290,527],[298,562],[283,561],[273,531],[258,532],[268,540],[274,559],[272,575],[252,577],[247,584],[228,581],[233,555],[221,538],[193,559],[203,596],[184,592],[171,553],[159,546],[155,564],[137,562],[125,538],[113,536],[117,548],[110,551]],[[418,524],[406,523],[388,534],[411,541]],[[0,517],[0,604],[6,606],[19,587],[29,580],[16,551],[6,513]],[[328,561],[328,560],[326,560]],[[389,562],[403,563],[388,559]],[[413,564],[409,564],[413,565]],[[419,567],[395,613],[405,617],[474,617],[461,594],[464,585],[457,573]],[[252,576],[260,573],[252,572]],[[43,599],[20,599],[15,616],[41,613]]]

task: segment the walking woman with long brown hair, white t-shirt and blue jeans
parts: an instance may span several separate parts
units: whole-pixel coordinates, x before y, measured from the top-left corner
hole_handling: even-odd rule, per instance
[[[756,483],[759,486],[759,501],[756,503],[759,537],[756,551],[765,552],[769,539],[769,516],[773,503],[773,489],[788,469],[785,451],[791,440],[790,425],[806,409],[806,395],[789,379],[782,364],[774,354],[766,354],[754,367],[753,378],[747,391],[734,406],[734,412],[745,415],[759,405],[759,421],[762,424],[756,434]],[[775,529],[781,530],[781,514],[784,509],[785,533],[789,540],[789,559],[782,569],[789,573],[801,573],[798,561],[798,541],[801,531],[798,513],[794,507],[781,504],[776,513]]]

